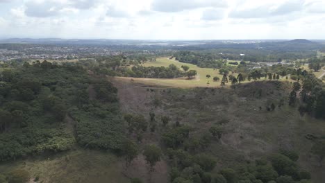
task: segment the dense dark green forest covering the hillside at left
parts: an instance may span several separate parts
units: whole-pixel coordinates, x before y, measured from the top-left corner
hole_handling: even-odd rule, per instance
[[[1,72],[0,86],[1,161],[69,150],[76,143],[122,149],[117,89],[82,67],[26,63]]]

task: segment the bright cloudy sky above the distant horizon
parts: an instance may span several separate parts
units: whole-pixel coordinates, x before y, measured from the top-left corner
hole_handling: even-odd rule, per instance
[[[0,0],[0,38],[325,39],[324,0]]]

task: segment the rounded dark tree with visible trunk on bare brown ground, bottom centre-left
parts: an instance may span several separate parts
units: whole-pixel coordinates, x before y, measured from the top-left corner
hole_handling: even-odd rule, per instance
[[[150,164],[150,171],[153,171],[153,166],[160,161],[161,149],[156,145],[147,145],[144,147],[143,155],[146,161]]]

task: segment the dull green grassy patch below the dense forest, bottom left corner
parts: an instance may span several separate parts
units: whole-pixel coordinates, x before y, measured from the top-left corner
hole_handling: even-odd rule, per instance
[[[72,150],[55,156],[18,160],[0,164],[0,172],[22,168],[31,174],[31,182],[129,182],[122,175],[121,160],[97,150]]]

